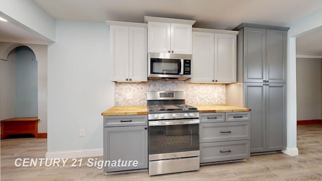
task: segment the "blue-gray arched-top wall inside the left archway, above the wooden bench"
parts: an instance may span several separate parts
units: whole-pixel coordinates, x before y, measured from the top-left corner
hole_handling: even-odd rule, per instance
[[[34,52],[26,47],[16,48],[15,117],[38,116],[37,61]]]

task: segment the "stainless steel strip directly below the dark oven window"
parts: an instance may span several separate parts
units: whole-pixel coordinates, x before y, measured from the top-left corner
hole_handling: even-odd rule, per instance
[[[183,151],[183,152],[174,152],[174,153],[161,153],[161,154],[152,154],[149,155],[149,161],[161,160],[161,159],[172,159],[172,158],[183,158],[183,157],[193,157],[199,156],[200,151]]]

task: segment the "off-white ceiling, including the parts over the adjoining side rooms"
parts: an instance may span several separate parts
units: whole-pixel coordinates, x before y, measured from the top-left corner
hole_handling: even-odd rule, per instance
[[[231,30],[240,23],[286,26],[322,8],[320,0],[34,0],[55,19],[143,23],[144,16],[196,20],[193,27]],[[47,44],[0,21],[0,41]],[[297,52],[322,54],[322,29],[296,40]]]

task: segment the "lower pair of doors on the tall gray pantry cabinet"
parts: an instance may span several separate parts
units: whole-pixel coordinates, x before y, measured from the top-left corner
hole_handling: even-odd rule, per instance
[[[286,147],[286,83],[245,83],[245,106],[252,109],[251,152]]]

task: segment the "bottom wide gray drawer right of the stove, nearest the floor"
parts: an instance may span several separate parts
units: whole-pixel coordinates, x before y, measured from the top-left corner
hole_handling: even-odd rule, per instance
[[[200,163],[250,157],[250,140],[200,143]]]

